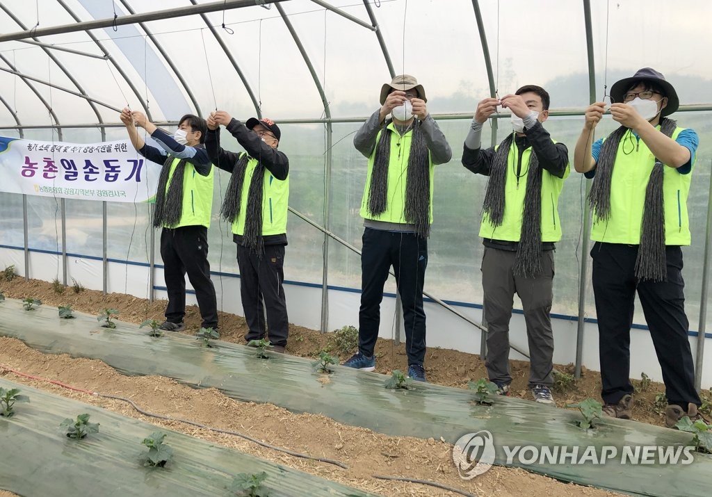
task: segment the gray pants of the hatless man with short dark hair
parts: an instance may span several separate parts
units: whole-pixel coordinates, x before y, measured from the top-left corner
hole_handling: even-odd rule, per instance
[[[515,276],[516,252],[485,247],[482,257],[484,317],[487,320],[487,360],[489,379],[498,384],[512,381],[509,367],[509,320],[512,317],[514,293],[519,295],[524,310],[529,342],[529,387],[551,385],[553,378],[554,337],[551,330],[554,251],[542,252],[543,271],[535,278]]]

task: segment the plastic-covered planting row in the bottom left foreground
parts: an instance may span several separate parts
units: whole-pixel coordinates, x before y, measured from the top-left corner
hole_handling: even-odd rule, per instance
[[[141,441],[155,425],[23,384],[0,379],[0,387],[30,397],[0,417],[0,488],[21,496],[227,496],[236,474],[261,471],[270,496],[372,495],[165,428],[172,458],[163,468],[144,466]],[[68,438],[60,423],[84,413],[98,433]]]

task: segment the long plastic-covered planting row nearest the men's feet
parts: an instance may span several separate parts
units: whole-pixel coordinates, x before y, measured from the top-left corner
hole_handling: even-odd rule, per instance
[[[649,464],[641,455],[645,447],[671,447],[680,454],[690,444],[689,433],[609,418],[585,431],[575,424],[581,415],[572,410],[510,397],[497,397],[484,407],[473,403],[472,392],[434,384],[389,390],[384,375],[345,367],[336,367],[331,381],[321,384],[311,361],[299,357],[258,359],[255,349],[219,341],[213,348],[200,347],[194,337],[180,333],[150,338],[137,325],[118,323],[109,330],[79,313],[77,319],[58,320],[53,309],[38,308],[28,317],[19,300],[7,300],[0,313],[0,335],[43,352],[103,360],[127,375],[162,375],[194,387],[215,387],[234,399],[324,414],[392,436],[443,437],[454,444],[461,436],[487,430],[495,464],[637,495],[676,495],[684,488],[687,496],[708,496],[712,456],[693,453],[692,464]],[[531,460],[533,449],[539,452],[543,446],[568,453],[576,448],[577,457]],[[522,452],[508,461],[506,448],[515,447]],[[595,451],[597,461],[582,460],[587,449]],[[613,449],[616,456],[602,461]],[[624,459],[624,451],[638,454],[637,459]]]

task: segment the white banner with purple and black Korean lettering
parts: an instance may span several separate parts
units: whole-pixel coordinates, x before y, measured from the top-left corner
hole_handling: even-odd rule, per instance
[[[108,202],[154,202],[161,164],[129,140],[64,143],[0,137],[0,192]]]

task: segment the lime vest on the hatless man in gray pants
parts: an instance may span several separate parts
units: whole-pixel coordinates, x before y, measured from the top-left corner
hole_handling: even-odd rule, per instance
[[[522,234],[522,218],[524,215],[524,197],[526,194],[526,184],[529,174],[529,159],[532,155],[532,147],[528,147],[522,152],[522,169],[525,174],[520,175],[517,184],[516,167],[518,160],[518,148],[515,142],[509,147],[507,157],[507,180],[504,188],[504,216],[500,226],[493,226],[488,221],[486,214],[482,215],[480,234],[482,238],[520,241]],[[559,241],[561,239],[561,223],[559,221],[559,195],[564,184],[564,179],[569,176],[569,166],[566,165],[566,172],[563,178],[559,178],[542,170],[541,175],[541,241]]]

